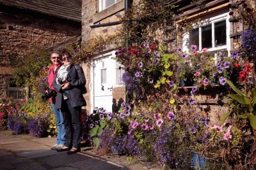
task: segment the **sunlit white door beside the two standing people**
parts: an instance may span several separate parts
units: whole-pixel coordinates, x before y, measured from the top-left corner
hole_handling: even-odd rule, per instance
[[[114,52],[93,60],[93,109],[104,108],[112,111],[112,90],[116,83],[116,60]]]

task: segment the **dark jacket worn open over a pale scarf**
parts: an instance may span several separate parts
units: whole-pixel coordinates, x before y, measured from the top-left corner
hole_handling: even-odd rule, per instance
[[[58,73],[58,72],[57,72]],[[63,90],[61,89],[61,85],[56,83],[57,74],[52,83],[54,89],[57,91],[55,108],[60,109],[63,101]],[[84,100],[83,94],[81,92],[81,87],[86,84],[86,80],[84,77],[84,71],[81,66],[76,66],[74,64],[70,64],[69,72],[67,75],[67,81],[70,82],[70,101],[72,107],[76,106],[86,106],[86,101]]]

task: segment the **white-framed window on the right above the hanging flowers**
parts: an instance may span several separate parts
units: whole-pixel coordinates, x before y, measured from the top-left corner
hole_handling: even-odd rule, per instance
[[[200,25],[194,25],[190,32],[184,34],[183,51],[188,52],[191,45],[198,50],[207,48],[209,52],[230,52],[230,23],[228,13],[222,13],[202,20]]]

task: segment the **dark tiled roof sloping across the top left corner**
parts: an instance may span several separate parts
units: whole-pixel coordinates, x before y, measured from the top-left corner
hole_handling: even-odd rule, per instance
[[[81,22],[81,0],[0,0],[0,4]]]

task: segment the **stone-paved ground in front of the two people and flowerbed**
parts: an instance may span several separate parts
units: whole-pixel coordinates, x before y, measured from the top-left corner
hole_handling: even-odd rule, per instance
[[[146,163],[128,162],[125,156],[98,157],[90,148],[67,155],[50,149],[55,141],[56,138],[35,138],[0,131],[0,169],[159,169]]]

